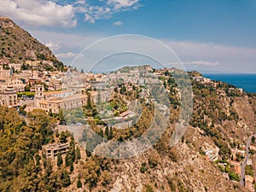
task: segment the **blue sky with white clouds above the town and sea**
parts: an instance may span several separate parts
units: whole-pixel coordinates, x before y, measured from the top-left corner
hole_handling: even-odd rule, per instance
[[[135,34],[166,44],[188,70],[256,73],[253,0],[1,0],[0,15],[25,28],[66,65],[102,38]],[[124,44],[109,42],[108,48]],[[166,56],[154,44],[145,49]]]

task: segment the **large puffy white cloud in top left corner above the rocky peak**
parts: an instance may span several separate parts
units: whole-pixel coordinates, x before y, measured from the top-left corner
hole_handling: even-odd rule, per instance
[[[73,5],[60,5],[54,1],[1,0],[0,13],[31,26],[73,27],[77,25]]]

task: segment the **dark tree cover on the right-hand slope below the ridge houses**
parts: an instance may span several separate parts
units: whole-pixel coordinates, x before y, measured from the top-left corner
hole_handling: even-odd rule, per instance
[[[212,141],[218,146],[219,155],[224,159],[230,158],[230,143],[226,142],[221,126],[225,121],[238,122],[238,114],[232,106],[232,98],[228,106],[225,106],[224,97],[218,96],[215,89],[206,87],[193,81],[194,111],[190,125],[199,127],[205,131],[206,136],[212,137]],[[218,89],[230,88],[230,85],[218,82]],[[234,90],[235,91],[235,90]],[[241,96],[241,95],[239,95]],[[229,111],[230,113],[227,113]],[[233,143],[231,144],[233,147]]]

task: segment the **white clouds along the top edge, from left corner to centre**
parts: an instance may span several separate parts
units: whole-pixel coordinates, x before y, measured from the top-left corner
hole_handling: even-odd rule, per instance
[[[139,0],[76,0],[60,3],[59,0],[1,0],[0,13],[26,26],[77,26],[76,15],[83,14],[84,20],[108,20],[114,14],[141,7]]]

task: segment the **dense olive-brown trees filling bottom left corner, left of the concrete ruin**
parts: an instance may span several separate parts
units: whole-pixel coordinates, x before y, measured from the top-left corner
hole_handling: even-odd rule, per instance
[[[26,125],[15,108],[0,107],[1,191],[37,190],[44,182],[38,179],[41,172],[38,150],[49,143],[55,120],[41,110],[27,116],[31,125]]]

